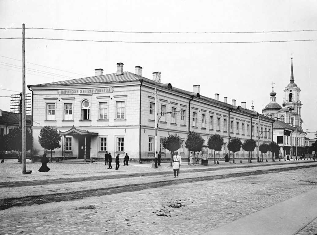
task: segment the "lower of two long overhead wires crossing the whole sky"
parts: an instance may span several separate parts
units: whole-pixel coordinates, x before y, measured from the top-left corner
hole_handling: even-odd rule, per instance
[[[19,39],[22,38],[0,38],[0,39]],[[79,39],[60,39],[60,38],[25,38],[40,40],[56,40],[56,41],[85,41],[85,42],[120,42],[120,43],[161,43],[161,44],[229,44],[229,43],[267,43],[267,42],[296,42],[296,41],[317,41],[317,39],[301,39],[301,40],[280,40],[280,41],[207,41],[207,42],[163,42],[163,41],[103,41],[103,40],[79,40]]]

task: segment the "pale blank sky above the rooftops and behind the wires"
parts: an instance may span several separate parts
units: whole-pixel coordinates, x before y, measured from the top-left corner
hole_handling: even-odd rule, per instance
[[[200,85],[203,96],[214,98],[218,93],[221,101],[236,99],[237,105],[246,102],[249,109],[253,101],[254,109],[262,113],[270,101],[272,82],[276,101],[282,104],[293,54],[294,80],[303,104],[302,127],[316,132],[317,41],[294,41],[317,40],[316,12],[315,0],[0,0],[0,28],[5,28],[0,29],[0,109],[10,111],[10,95],[22,91],[23,23],[26,28],[182,32],[26,29],[26,38],[213,42],[26,39],[26,84],[94,76],[96,68],[115,73],[116,63],[121,62],[123,70],[132,73],[135,66],[143,67],[142,75],[149,79],[153,72],[161,72],[161,82],[173,87],[192,91],[193,85]],[[296,32],[232,33],[271,31]]]

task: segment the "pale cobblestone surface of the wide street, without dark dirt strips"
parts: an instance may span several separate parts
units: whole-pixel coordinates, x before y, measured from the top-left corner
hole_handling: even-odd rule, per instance
[[[267,170],[266,167],[259,169]],[[138,171],[144,170],[157,169],[138,168]],[[158,170],[162,173],[165,171]],[[171,169],[167,170],[171,171]],[[182,177],[203,177],[203,175],[252,170],[256,169],[223,168],[211,172],[180,174],[180,178],[175,179],[171,175],[163,174],[141,177],[141,180],[172,178],[177,181]],[[16,176],[8,179],[3,173],[0,174],[2,182],[16,180]],[[201,234],[316,188],[315,175],[316,168],[300,168],[238,178],[185,182],[81,200],[12,207],[0,211],[0,234]],[[47,177],[56,178],[53,175]],[[20,178],[34,180],[34,177],[24,175]],[[122,178],[118,182],[111,183],[121,185],[124,181],[130,180],[133,178]],[[84,184],[82,186],[88,187],[87,185],[91,185],[92,182],[82,182]],[[70,193],[79,187],[76,185],[78,183],[68,185]],[[61,185],[64,184],[50,185],[49,188],[66,190],[67,187],[63,188]],[[125,184],[122,185],[125,187]],[[7,196],[3,196],[3,190],[6,189],[0,189],[1,198],[10,196],[9,192]],[[39,187],[32,188],[32,186],[9,189],[13,190],[12,193],[16,190],[15,192],[25,192],[30,195],[42,191]],[[316,221],[311,222],[298,234],[317,233],[316,224]]]

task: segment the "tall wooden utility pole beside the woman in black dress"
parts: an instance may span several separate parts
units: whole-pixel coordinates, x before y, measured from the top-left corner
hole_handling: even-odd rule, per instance
[[[22,174],[26,174],[25,24],[22,24]]]

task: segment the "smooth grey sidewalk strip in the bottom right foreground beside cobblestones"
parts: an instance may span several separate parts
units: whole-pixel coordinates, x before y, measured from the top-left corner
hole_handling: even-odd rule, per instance
[[[291,235],[317,217],[317,189],[237,219],[205,235]]]

